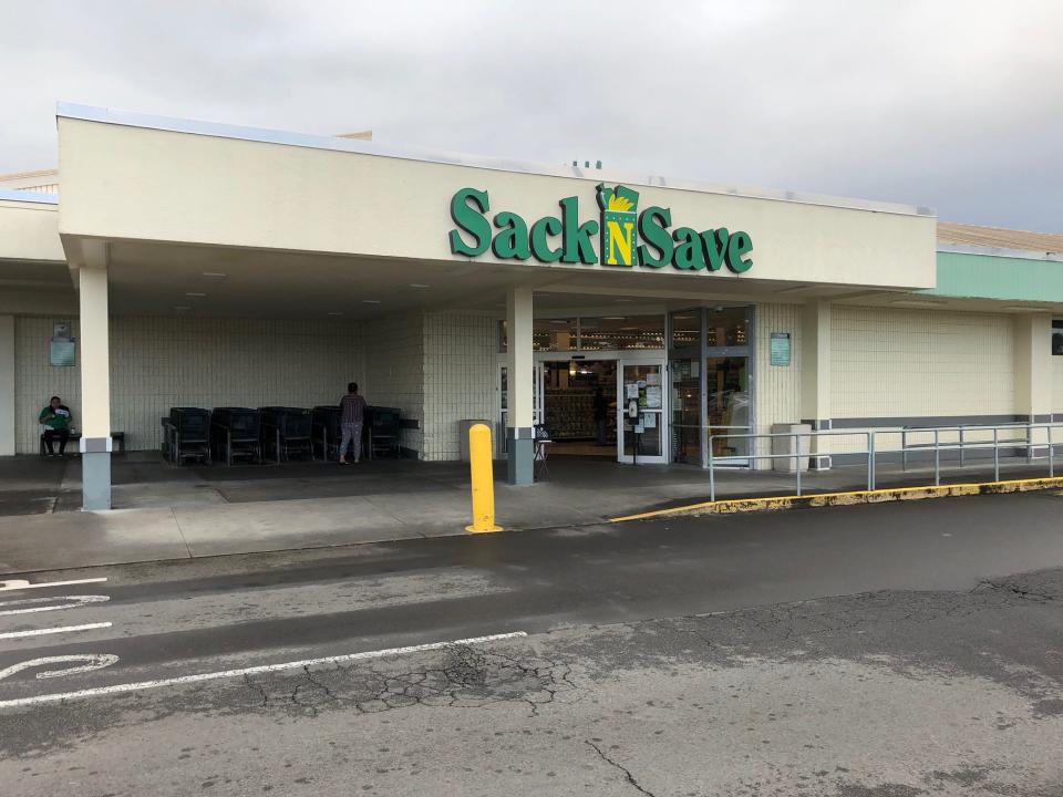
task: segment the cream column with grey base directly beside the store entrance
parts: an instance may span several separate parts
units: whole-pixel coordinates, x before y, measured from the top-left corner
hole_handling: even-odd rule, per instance
[[[509,452],[509,484],[528,485],[535,478],[535,431],[533,428],[532,289],[510,288],[506,294],[506,369],[509,374],[509,413],[506,448]]]

